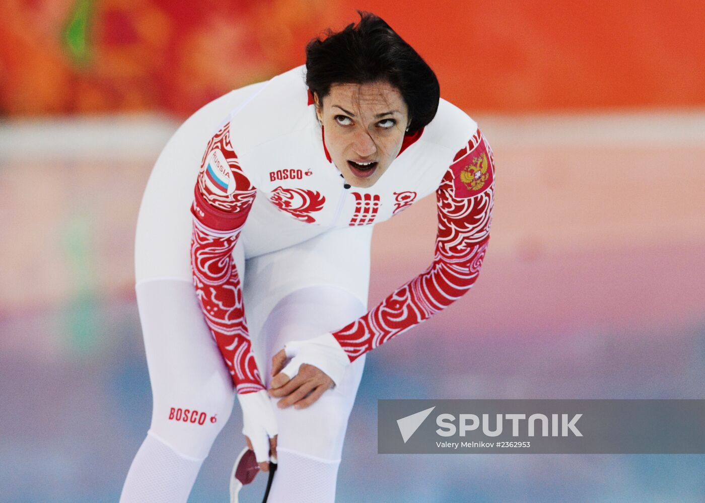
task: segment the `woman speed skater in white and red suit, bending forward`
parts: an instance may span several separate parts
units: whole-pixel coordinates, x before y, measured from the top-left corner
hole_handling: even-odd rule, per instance
[[[431,192],[433,261],[367,310],[374,224]],[[493,200],[477,123],[369,13],[197,111],[137,221],[154,405],[121,502],[185,502],[235,396],[259,466],[278,459],[269,502],[333,502],[367,352],[470,290]]]

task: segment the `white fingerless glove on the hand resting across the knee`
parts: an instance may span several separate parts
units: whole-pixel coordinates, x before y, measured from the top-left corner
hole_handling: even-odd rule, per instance
[[[326,333],[307,340],[295,340],[284,345],[286,357],[291,361],[282,372],[293,379],[299,373],[302,364],[309,364],[321,369],[339,385],[343,380],[345,367],[350,365],[348,354],[343,351],[333,334]]]

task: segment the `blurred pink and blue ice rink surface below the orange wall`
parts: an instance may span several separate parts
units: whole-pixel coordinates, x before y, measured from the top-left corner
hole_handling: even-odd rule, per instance
[[[705,455],[376,454],[376,399],[705,398],[705,111],[475,119],[496,160],[482,272],[369,355],[338,501],[701,501]],[[177,126],[0,124],[0,501],[118,499],[152,409],[135,221]],[[427,198],[376,228],[370,306],[428,266],[435,218]],[[240,429],[191,501],[226,501]]]

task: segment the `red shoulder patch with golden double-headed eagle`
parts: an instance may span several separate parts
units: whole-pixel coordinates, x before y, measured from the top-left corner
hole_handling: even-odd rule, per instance
[[[482,134],[477,130],[467,147],[455,154],[450,165],[453,173],[455,197],[467,199],[487,190],[494,182],[492,151]]]

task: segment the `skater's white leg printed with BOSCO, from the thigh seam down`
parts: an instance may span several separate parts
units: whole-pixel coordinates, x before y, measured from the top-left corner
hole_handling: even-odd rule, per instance
[[[137,285],[152,424],[125,480],[122,503],[185,502],[233,408],[233,383],[190,282]]]

